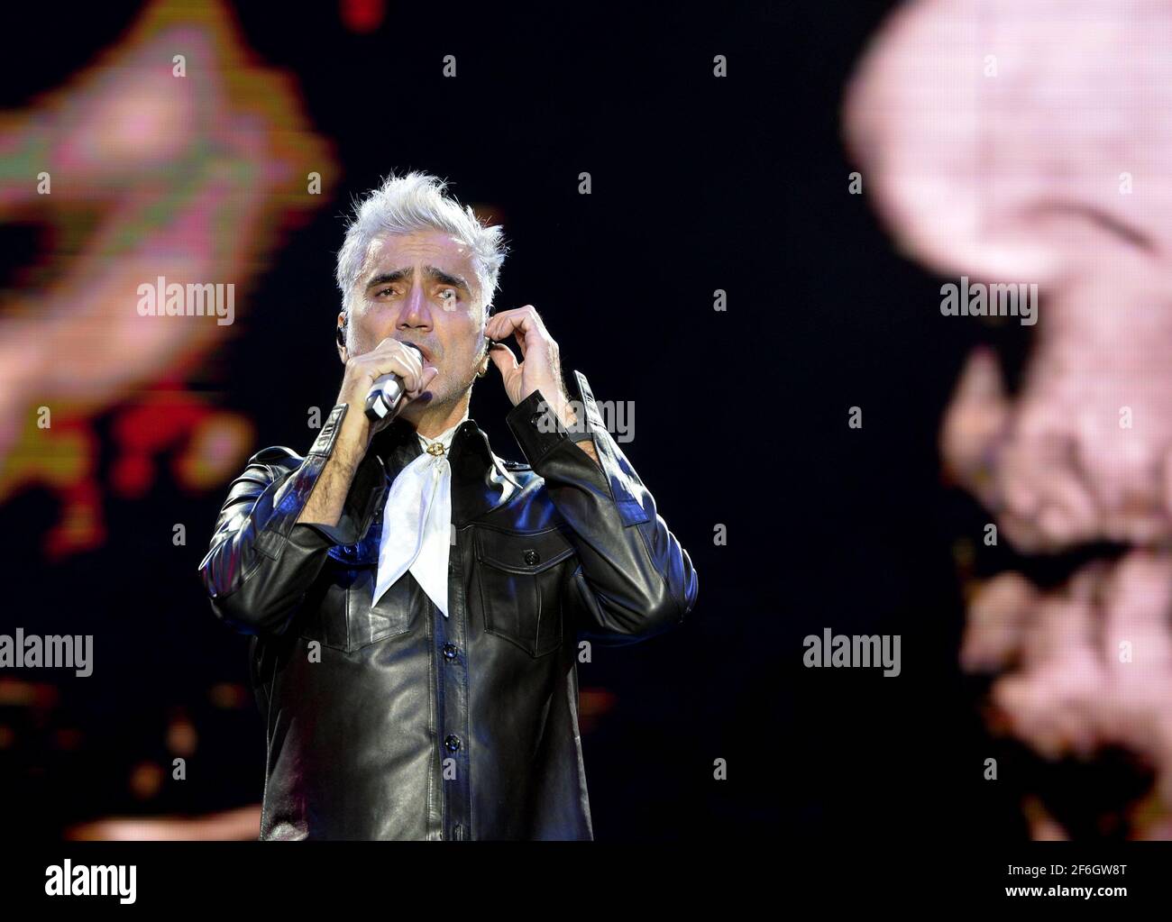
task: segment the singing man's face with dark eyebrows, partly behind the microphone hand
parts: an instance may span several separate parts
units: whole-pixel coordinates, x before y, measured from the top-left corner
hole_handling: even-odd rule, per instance
[[[424,368],[440,374],[402,411],[417,422],[424,409],[450,405],[472,385],[484,355],[484,320],[466,246],[442,231],[383,234],[367,250],[347,343],[350,355],[362,355],[388,336],[423,350]]]

